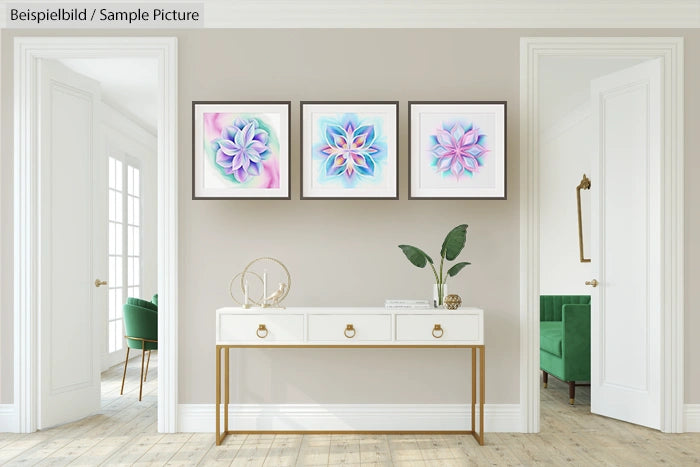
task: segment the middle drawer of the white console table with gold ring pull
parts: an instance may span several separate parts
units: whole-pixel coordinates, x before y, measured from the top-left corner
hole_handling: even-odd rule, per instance
[[[309,315],[309,342],[390,340],[390,315]]]

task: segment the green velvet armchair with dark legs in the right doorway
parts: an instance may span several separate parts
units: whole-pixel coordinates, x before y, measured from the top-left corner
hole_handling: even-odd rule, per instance
[[[573,405],[576,386],[591,380],[591,296],[540,295],[540,369],[569,384]]]

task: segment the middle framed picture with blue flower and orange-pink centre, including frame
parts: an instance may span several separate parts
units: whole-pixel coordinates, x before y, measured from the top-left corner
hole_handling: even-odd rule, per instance
[[[392,102],[301,103],[301,199],[398,199]]]

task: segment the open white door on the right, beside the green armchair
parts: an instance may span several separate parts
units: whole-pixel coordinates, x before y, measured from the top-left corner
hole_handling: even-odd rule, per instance
[[[591,411],[661,426],[661,62],[591,83]]]

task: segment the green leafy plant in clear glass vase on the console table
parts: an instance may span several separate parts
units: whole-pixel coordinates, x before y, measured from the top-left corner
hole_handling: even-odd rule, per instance
[[[424,268],[426,264],[430,264],[430,268],[433,270],[433,275],[435,276],[435,285],[433,286],[433,300],[436,306],[442,306],[443,299],[447,295],[447,278],[456,276],[459,271],[464,269],[465,266],[471,264],[467,262],[456,263],[452,265],[450,269],[447,270],[447,274],[443,274],[445,260],[454,261],[457,256],[462,252],[464,244],[467,242],[467,224],[458,225],[445,237],[442,242],[442,248],[440,249],[440,273],[435,269],[435,264],[433,259],[428,256],[420,248],[416,248],[411,245],[399,245],[403,254],[406,258],[414,265],[419,268]]]

